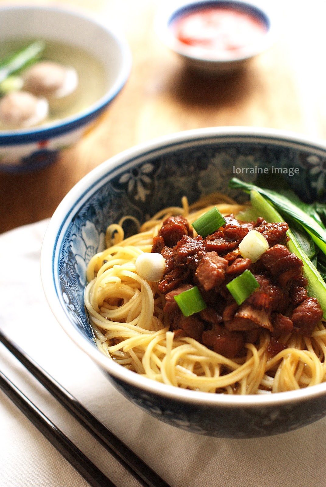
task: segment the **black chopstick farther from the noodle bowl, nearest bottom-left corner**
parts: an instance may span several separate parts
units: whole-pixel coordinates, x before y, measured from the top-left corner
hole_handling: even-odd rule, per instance
[[[0,389],[92,487],[116,487],[1,371]]]

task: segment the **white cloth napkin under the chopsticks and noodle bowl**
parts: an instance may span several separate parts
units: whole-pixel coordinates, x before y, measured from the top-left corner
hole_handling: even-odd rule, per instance
[[[200,436],[143,412],[66,336],[43,295],[39,254],[48,221],[0,236],[0,326],[172,487],[326,485],[326,419],[260,439]],[[117,487],[138,482],[0,345],[9,376]],[[88,485],[0,391],[0,486]]]

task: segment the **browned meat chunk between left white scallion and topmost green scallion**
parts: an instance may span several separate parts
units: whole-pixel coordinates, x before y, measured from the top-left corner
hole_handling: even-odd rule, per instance
[[[193,270],[205,254],[205,241],[200,235],[195,238],[184,235],[173,247],[174,262],[177,265],[190,265]]]

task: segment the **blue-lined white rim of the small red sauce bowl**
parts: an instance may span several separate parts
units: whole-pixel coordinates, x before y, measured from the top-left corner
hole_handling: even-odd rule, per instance
[[[268,20],[268,31],[263,37],[262,42],[255,48],[250,50],[247,55],[239,55],[231,58],[216,58],[209,55],[200,56],[192,51],[192,48],[179,41],[172,33],[170,22],[174,16],[180,11],[180,13],[189,7],[189,11],[196,9],[201,4],[223,4],[235,6],[248,6],[249,9],[260,12],[261,17]],[[270,2],[271,3],[271,2]],[[230,65],[231,63],[237,61],[245,61],[253,56],[260,54],[261,52],[267,50],[277,39],[277,16],[274,12],[274,7],[268,2],[263,3],[260,0],[178,0],[177,2],[170,2],[168,5],[163,5],[158,9],[155,19],[154,26],[158,37],[161,41],[169,47],[172,51],[185,57],[188,60],[200,61],[206,65]]]

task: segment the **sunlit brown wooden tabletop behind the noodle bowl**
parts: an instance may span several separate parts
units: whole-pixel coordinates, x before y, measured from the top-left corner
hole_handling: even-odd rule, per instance
[[[266,0],[271,3],[271,0]],[[30,3],[27,1],[2,1]],[[38,4],[53,2],[39,0]],[[131,75],[96,128],[34,173],[0,173],[0,232],[50,217],[68,190],[118,152],[161,135],[211,126],[256,126],[326,139],[326,1],[280,0],[279,38],[245,70],[205,78],[156,37],[158,0],[61,0],[114,25],[133,54]]]

